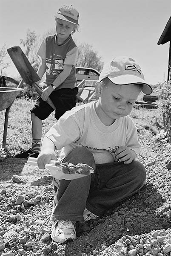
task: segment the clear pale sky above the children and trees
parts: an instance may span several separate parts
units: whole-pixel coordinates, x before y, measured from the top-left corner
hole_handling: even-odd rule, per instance
[[[157,42],[171,16],[170,0],[0,0],[0,47],[22,48],[28,29],[36,35],[54,29],[55,12],[64,4],[80,14],[74,40],[92,45],[104,63],[130,56],[150,84],[167,80],[169,42]],[[12,62],[8,72],[19,75]]]

